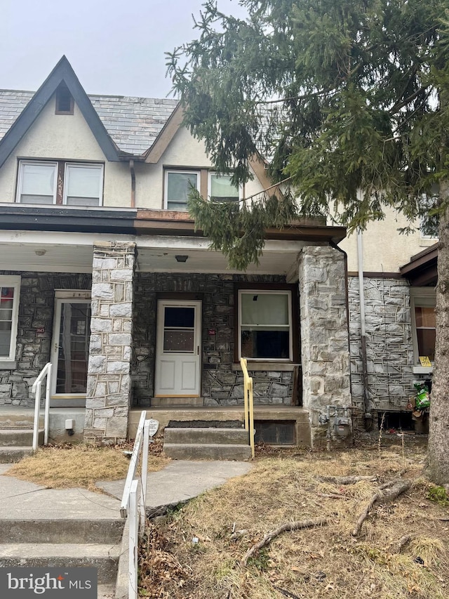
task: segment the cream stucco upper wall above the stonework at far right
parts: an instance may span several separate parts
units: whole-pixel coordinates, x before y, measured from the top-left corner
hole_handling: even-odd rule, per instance
[[[386,209],[384,220],[373,221],[363,231],[363,271],[399,272],[410,261],[410,256],[433,245],[436,239],[422,238],[417,230],[400,235],[398,228],[408,225],[406,218],[392,209]],[[348,235],[339,246],[348,254],[348,270],[358,270],[357,233]]]

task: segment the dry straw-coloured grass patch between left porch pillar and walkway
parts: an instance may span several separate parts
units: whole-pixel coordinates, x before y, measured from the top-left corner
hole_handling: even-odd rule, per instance
[[[83,444],[43,447],[36,454],[15,463],[6,475],[51,489],[82,487],[101,492],[95,487],[96,481],[126,478],[129,459],[123,454],[123,449]],[[161,470],[169,461],[159,447],[151,446],[149,472]]]

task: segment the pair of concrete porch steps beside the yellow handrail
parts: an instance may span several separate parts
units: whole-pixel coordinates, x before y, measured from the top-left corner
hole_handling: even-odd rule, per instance
[[[164,430],[163,452],[173,459],[248,460],[251,457],[248,431],[235,423],[210,426],[168,426]],[[201,424],[203,424],[201,422]]]

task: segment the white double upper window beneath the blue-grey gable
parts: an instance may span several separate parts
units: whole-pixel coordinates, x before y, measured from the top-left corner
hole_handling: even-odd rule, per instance
[[[101,206],[103,165],[21,160],[17,202]]]

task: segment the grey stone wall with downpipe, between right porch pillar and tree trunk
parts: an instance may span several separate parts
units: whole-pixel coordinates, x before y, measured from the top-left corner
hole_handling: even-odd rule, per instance
[[[370,409],[397,411],[413,395],[413,341],[410,288],[404,279],[363,279]],[[349,277],[349,331],[354,404],[363,414],[358,277]],[[423,378],[428,378],[424,376]]]

